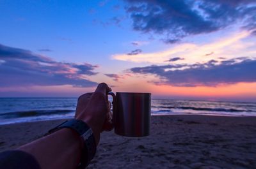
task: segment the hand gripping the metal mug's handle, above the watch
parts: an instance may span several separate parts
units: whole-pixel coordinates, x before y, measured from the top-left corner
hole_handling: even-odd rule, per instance
[[[113,129],[111,122],[107,84],[99,84],[95,92],[79,96],[75,118],[82,120],[93,130],[96,143],[99,143],[100,132]]]

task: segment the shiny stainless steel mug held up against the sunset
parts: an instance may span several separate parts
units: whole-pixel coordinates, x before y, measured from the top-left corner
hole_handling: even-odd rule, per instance
[[[113,97],[115,133],[122,136],[147,136],[150,133],[151,94],[109,92]]]

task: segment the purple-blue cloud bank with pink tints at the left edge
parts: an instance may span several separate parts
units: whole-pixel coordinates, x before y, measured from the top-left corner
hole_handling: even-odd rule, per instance
[[[57,62],[29,50],[0,45],[0,87],[31,85],[73,85],[92,87],[86,79],[96,75],[97,66],[83,63]]]

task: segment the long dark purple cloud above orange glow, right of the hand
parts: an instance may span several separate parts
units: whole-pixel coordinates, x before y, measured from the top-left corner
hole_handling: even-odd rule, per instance
[[[216,86],[238,82],[256,82],[256,60],[231,59],[218,62],[211,60],[204,64],[176,64],[132,68],[132,73],[157,75],[163,82],[173,86]]]

